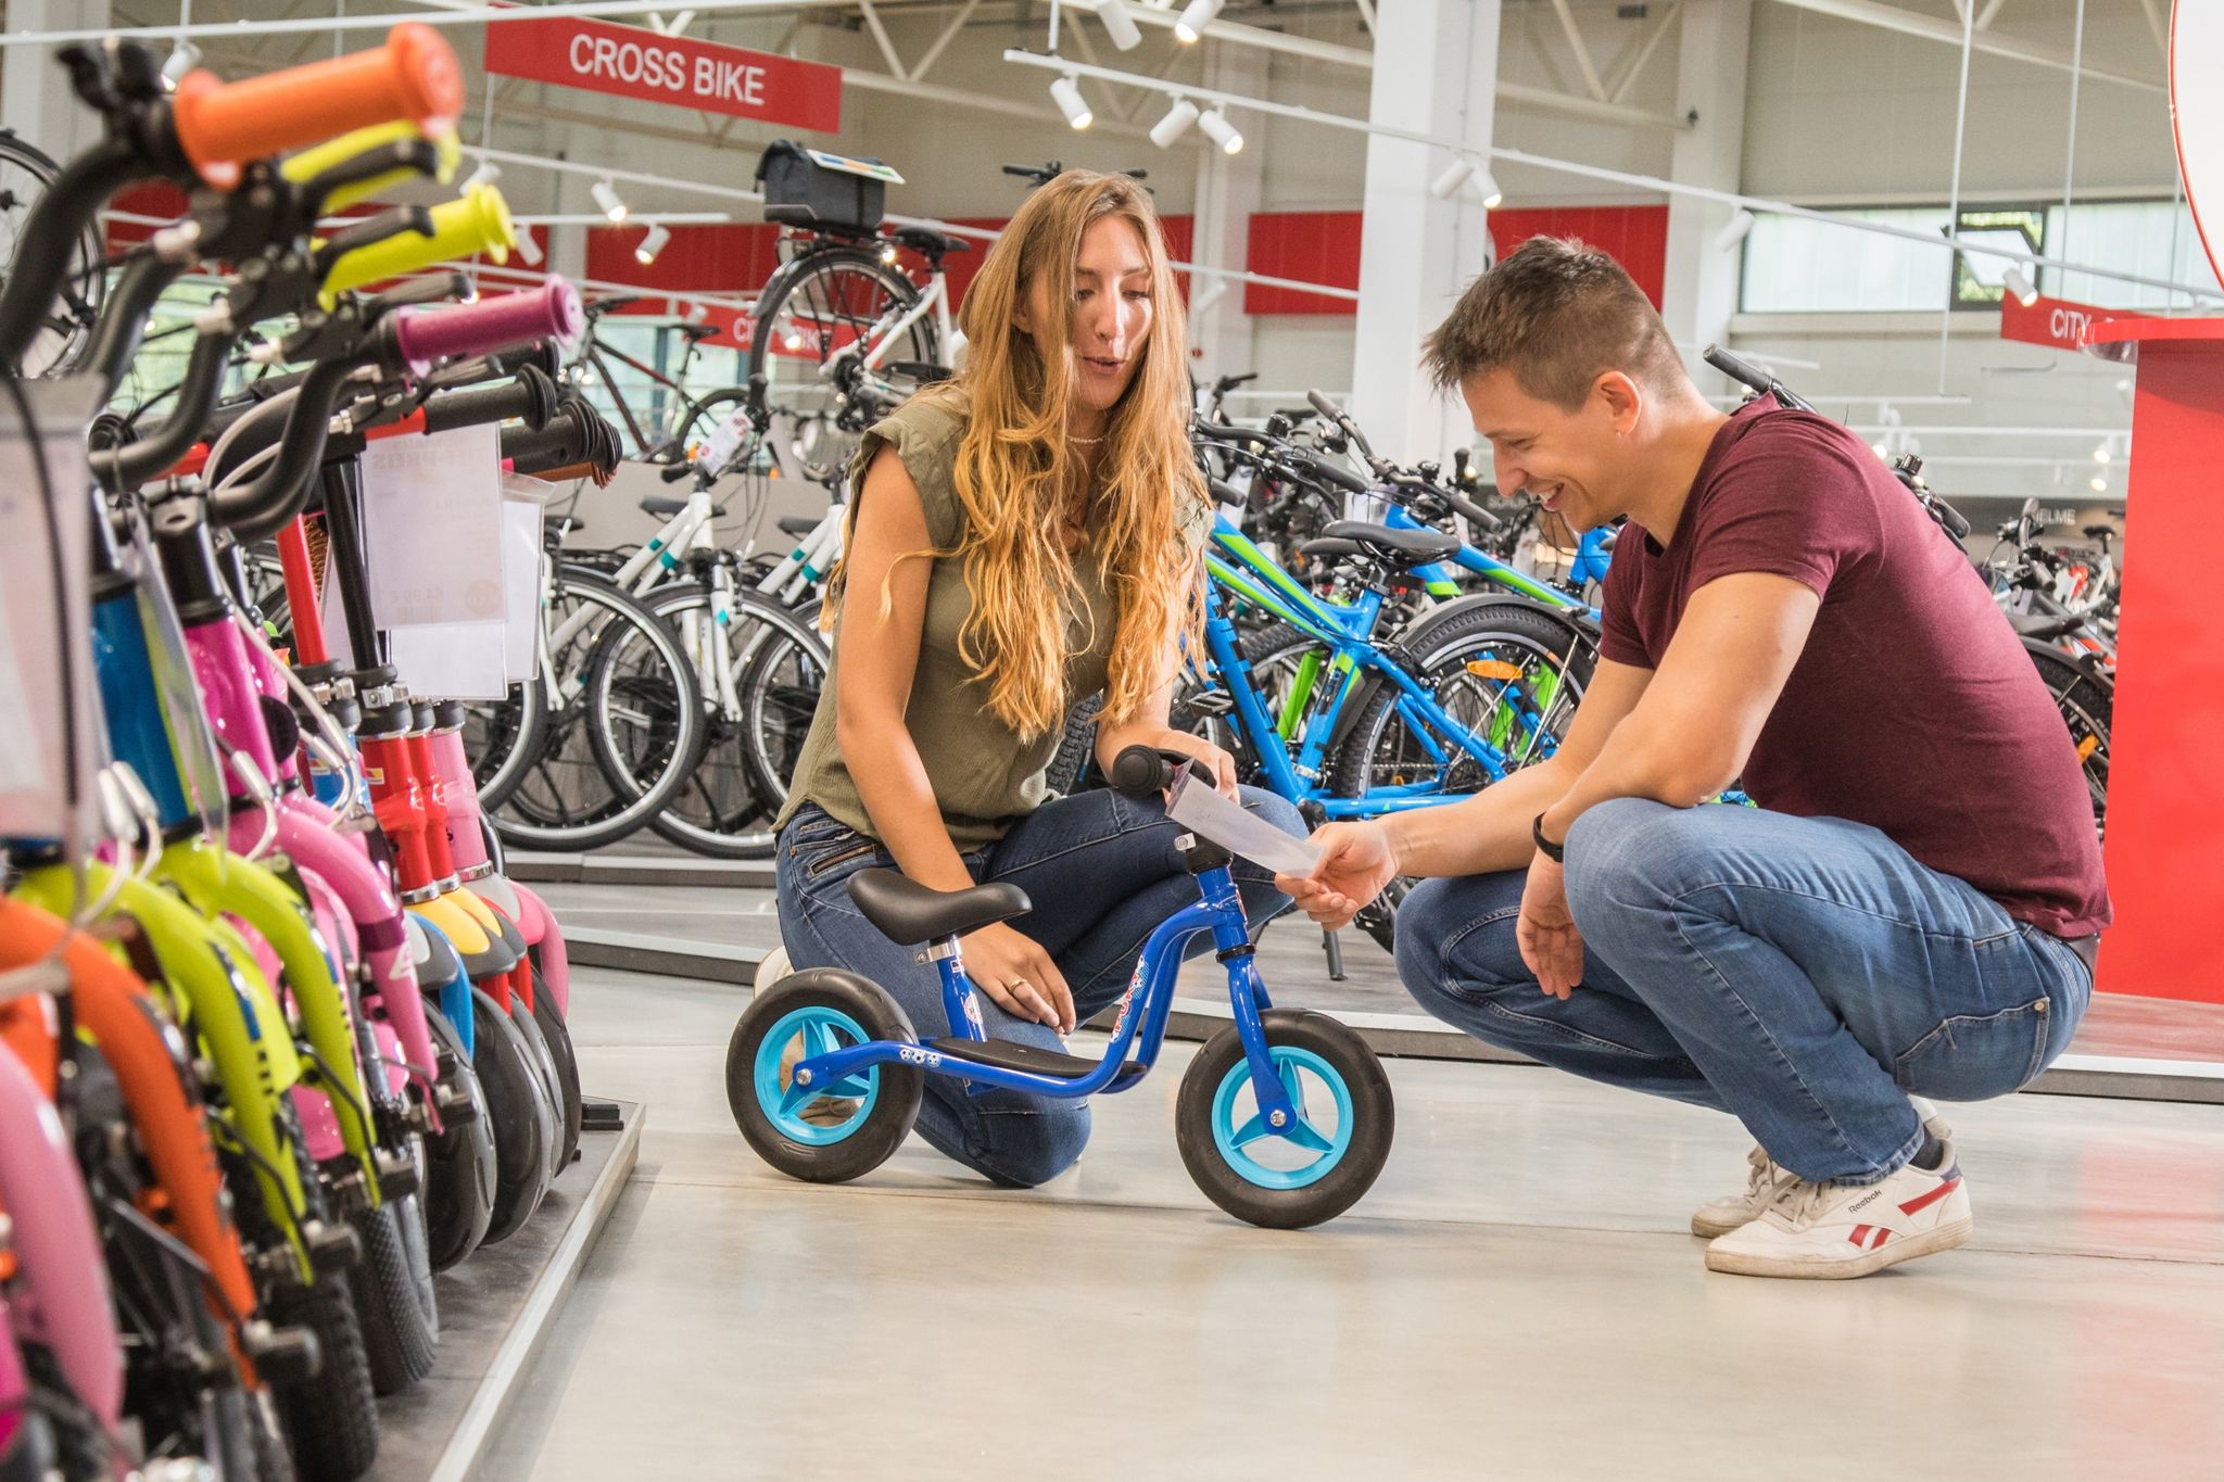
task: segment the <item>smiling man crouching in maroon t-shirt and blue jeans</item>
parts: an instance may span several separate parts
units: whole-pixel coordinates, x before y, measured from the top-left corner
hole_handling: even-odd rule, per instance
[[[1962,549],[1853,433],[1724,415],[1610,258],[1532,238],[1426,362],[1499,489],[1628,515],[1604,658],[1548,762],[1332,824],[1277,884],[1341,927],[1394,875],[1399,975],[1492,1044],[1737,1115],[1710,1271],[1866,1275],[1970,1235],[1926,1102],[2006,1095],[2084,1013],[2108,924],[2053,702]],[[1744,780],[1757,809],[1708,804]]]

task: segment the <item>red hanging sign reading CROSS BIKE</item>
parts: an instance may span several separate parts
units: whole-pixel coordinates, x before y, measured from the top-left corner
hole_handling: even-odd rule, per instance
[[[600,20],[487,27],[487,71],[836,133],[841,67]]]

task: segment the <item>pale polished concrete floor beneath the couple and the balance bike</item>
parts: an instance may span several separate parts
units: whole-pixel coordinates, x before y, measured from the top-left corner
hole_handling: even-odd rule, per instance
[[[2213,1107],[1950,1109],[1975,1244],[1788,1284],[1684,1233],[1735,1124],[1535,1067],[1392,1062],[1377,1189],[1272,1233],[1181,1169],[1188,1047],[1045,1189],[821,1189],[727,1115],[736,989],[574,993],[647,1140],[485,1478],[2224,1475]]]

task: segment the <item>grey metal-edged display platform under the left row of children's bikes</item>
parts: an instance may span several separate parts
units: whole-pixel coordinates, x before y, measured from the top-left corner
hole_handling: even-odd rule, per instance
[[[616,1129],[607,1129],[609,1109],[620,1122]],[[369,1482],[478,1475],[487,1438],[516,1400],[518,1382],[634,1173],[643,1115],[641,1102],[587,1098],[578,1162],[556,1180],[540,1211],[509,1240],[480,1246],[434,1278],[440,1358],[425,1382],[378,1402],[378,1464]]]

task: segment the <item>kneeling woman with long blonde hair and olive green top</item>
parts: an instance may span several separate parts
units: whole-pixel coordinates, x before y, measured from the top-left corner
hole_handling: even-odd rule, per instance
[[[990,249],[961,322],[963,373],[858,449],[834,664],[781,815],[781,935],[796,969],[861,973],[936,1038],[952,1029],[934,969],[865,922],[850,878],[1010,880],[1034,911],[963,938],[965,971],[992,1038],[1061,1049],[1125,991],[1152,927],[1197,900],[1156,800],[1045,798],[1076,700],[1105,695],[1101,764],[1136,742],[1188,751],[1243,807],[1303,824],[1168,724],[1212,504],[1150,198],[1065,171]],[[1270,871],[1239,862],[1237,882],[1254,931],[1290,904]],[[1039,1184],[1081,1155],[1090,1113],[930,1075],[919,1131],[996,1182]]]

